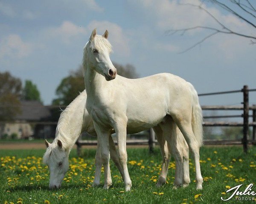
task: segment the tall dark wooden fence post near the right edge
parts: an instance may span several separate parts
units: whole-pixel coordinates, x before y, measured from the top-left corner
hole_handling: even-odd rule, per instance
[[[243,127],[243,147],[244,153],[247,153],[247,144],[248,144],[248,130],[249,130],[249,122],[248,122],[248,115],[249,115],[249,96],[248,96],[248,86],[244,85],[243,94],[244,94],[244,127]]]

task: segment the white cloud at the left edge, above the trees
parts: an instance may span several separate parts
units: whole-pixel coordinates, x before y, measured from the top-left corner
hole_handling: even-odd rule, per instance
[[[24,42],[19,35],[10,34],[3,38],[0,43],[0,59],[9,57],[11,59],[21,59],[29,56],[34,46],[29,42]]]

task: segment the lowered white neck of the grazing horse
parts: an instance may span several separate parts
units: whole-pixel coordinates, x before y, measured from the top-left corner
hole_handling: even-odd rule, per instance
[[[63,143],[64,149],[70,152],[76,140],[79,138],[84,124],[86,93],[82,92],[73,100],[66,110],[61,113],[56,128],[55,140]]]

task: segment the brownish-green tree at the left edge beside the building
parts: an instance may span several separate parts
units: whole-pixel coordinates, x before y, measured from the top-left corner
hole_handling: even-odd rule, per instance
[[[12,120],[20,113],[21,81],[0,72],[0,120]]]

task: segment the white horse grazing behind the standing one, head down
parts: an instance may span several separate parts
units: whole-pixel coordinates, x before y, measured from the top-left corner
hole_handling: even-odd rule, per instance
[[[76,140],[79,138],[81,132],[86,131],[87,133],[90,133],[91,135],[96,136],[96,132],[93,127],[93,120],[91,119],[89,113],[85,108],[86,99],[87,99],[86,91],[81,92],[81,94],[77,96],[76,99],[74,99],[73,102],[70,103],[70,105],[67,106],[65,111],[61,113],[61,116],[58,121],[58,126],[56,128],[56,136],[52,144],[50,144],[49,142],[47,142],[47,140],[45,140],[47,150],[44,154],[43,161],[49,167],[49,172],[50,172],[49,188],[59,188],[61,186],[61,182],[69,167],[68,156],[69,156],[70,150],[72,149]],[[176,133],[174,134],[176,135]],[[177,128],[177,134],[178,134],[177,141],[174,141],[174,143],[179,144],[179,150],[178,150],[179,154],[181,155],[181,157],[182,156],[184,157],[183,186],[187,186],[190,182],[189,163],[188,163],[189,152],[188,152],[188,147],[183,149],[183,142],[184,142],[182,141],[183,136],[180,133],[178,128]],[[166,182],[166,176],[167,176],[169,160],[170,160],[170,151],[167,146],[166,140],[161,132],[157,133],[157,139],[160,144],[160,149],[163,156],[162,170],[157,182],[157,186],[160,186]],[[109,141],[110,141],[111,158],[113,159],[114,163],[118,167],[123,177],[123,170],[119,164],[116,147],[114,145],[114,142],[111,136],[109,137]],[[101,159],[99,142],[97,145],[97,151],[95,156],[95,165],[96,165],[96,170],[95,170],[95,178],[93,181],[93,186],[99,185],[99,182],[100,182],[102,159]],[[110,171],[108,171],[108,173],[109,173],[108,180],[110,181],[110,183],[112,183]]]

